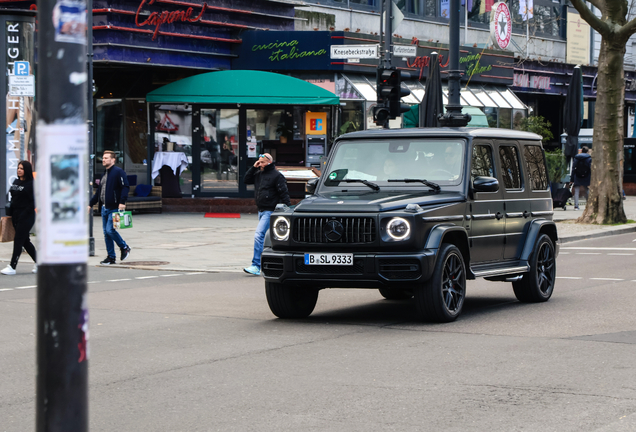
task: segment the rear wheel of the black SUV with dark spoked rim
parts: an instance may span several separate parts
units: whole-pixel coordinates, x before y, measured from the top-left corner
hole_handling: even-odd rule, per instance
[[[517,300],[523,303],[548,301],[554,291],[556,259],[552,239],[542,234],[537,239],[530,256],[530,272],[512,283]]]

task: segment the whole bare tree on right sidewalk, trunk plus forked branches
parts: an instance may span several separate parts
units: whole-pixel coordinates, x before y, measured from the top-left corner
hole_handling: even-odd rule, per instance
[[[620,160],[623,154],[625,80],[623,59],[627,42],[636,32],[636,19],[628,21],[627,0],[588,0],[601,11],[597,17],[584,0],[570,0],[583,18],[601,35],[598,57],[592,181],[581,223],[625,223]]]

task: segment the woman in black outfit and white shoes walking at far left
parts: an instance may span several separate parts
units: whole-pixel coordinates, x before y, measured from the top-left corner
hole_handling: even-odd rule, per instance
[[[22,253],[22,248],[27,251],[33,262],[35,259],[35,246],[29,239],[29,231],[35,224],[35,198],[33,196],[33,167],[30,162],[20,161],[18,164],[18,178],[14,180],[11,188],[11,221],[15,228],[15,239],[13,240],[13,256],[11,264],[0,273],[14,275],[18,266],[18,259]],[[33,273],[37,273],[38,265],[33,266]]]

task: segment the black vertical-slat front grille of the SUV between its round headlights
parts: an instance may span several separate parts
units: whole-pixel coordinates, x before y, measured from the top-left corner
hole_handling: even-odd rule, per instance
[[[342,236],[328,240],[327,222],[342,224]],[[373,243],[376,238],[375,220],[370,217],[299,217],[294,219],[292,236],[297,243]]]

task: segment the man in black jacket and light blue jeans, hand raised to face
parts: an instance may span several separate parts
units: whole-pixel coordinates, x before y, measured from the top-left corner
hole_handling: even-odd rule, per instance
[[[261,254],[265,233],[269,229],[269,217],[276,208],[276,204],[284,203],[291,206],[287,180],[274,165],[274,159],[269,153],[258,156],[254,166],[245,173],[245,184],[254,185],[254,198],[258,207],[258,225],[254,233],[254,257],[252,265],[243,269],[245,273],[261,274]]]

